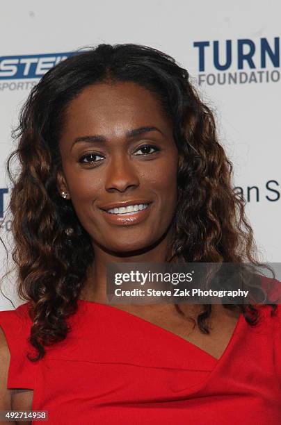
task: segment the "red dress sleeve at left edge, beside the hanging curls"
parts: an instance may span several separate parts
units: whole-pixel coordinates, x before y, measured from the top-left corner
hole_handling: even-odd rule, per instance
[[[5,334],[10,350],[7,388],[29,388],[35,384],[35,370],[38,362],[31,362],[27,353],[34,355],[35,349],[28,342],[32,325],[28,310],[30,302],[18,306],[15,310],[0,312],[0,326]]]

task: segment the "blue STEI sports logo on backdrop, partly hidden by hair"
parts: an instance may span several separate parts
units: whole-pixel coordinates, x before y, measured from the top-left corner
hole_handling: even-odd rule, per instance
[[[30,90],[49,69],[72,54],[0,56],[0,90]]]

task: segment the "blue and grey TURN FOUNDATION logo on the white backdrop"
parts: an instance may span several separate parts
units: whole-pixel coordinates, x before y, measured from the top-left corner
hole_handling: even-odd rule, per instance
[[[196,41],[198,85],[278,83],[280,38]]]

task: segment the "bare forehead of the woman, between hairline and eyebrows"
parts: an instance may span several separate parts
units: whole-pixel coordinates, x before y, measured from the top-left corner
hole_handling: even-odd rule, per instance
[[[170,130],[159,100],[149,90],[135,83],[88,86],[70,102],[65,114],[63,133],[76,137],[85,131],[122,135],[142,126]]]

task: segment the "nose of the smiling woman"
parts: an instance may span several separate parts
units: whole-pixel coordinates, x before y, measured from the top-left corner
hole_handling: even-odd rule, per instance
[[[138,172],[132,161],[124,154],[111,158],[106,174],[106,190],[125,192],[128,188],[138,187],[138,185]]]

